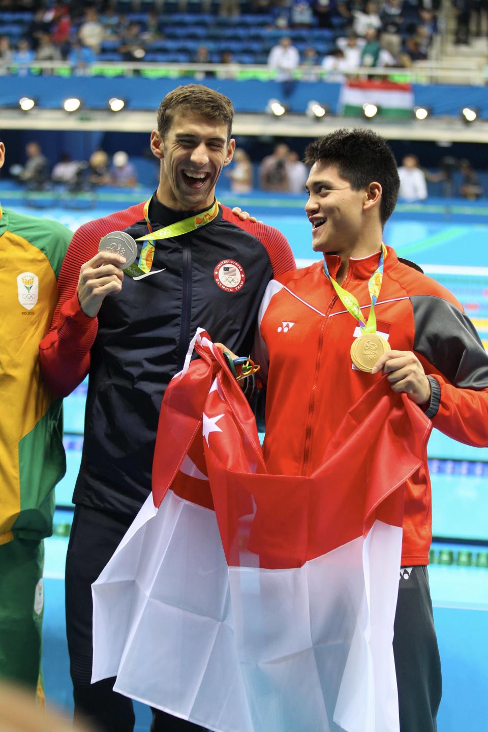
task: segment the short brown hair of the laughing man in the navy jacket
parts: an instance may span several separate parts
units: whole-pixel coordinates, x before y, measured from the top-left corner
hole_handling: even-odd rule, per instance
[[[228,140],[230,139],[234,108],[229,97],[203,84],[177,86],[166,94],[157,111],[157,131],[161,137],[165,137],[173,122],[174,113],[180,109],[227,124]]]

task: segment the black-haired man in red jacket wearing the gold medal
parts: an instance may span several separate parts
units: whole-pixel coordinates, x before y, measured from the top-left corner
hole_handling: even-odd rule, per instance
[[[369,130],[337,130],[309,145],[305,162],[312,248],[324,258],[275,277],[260,308],[255,361],[266,382],[268,471],[312,474],[344,415],[383,376],[440,431],[486,446],[488,354],[473,324],[451,293],[383,244],[399,188],[386,142]],[[402,732],[437,728],[431,539],[426,455],[405,485],[394,627]]]

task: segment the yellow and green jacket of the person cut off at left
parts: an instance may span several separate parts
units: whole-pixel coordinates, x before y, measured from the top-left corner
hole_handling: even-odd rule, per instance
[[[61,400],[42,381],[38,348],[71,236],[0,207],[0,545],[50,535],[66,471]]]

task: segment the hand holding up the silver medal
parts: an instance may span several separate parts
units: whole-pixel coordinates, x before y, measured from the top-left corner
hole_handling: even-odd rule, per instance
[[[126,260],[113,252],[99,252],[94,258],[81,265],[78,280],[78,300],[85,315],[98,315],[105,297],[120,292],[124,272],[120,265]]]

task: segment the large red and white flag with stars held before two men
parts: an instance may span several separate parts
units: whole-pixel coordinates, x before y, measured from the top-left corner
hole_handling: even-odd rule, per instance
[[[92,586],[92,681],[219,732],[398,732],[403,484],[429,430],[381,380],[311,477],[268,474],[199,331],[162,403],[152,495]]]

